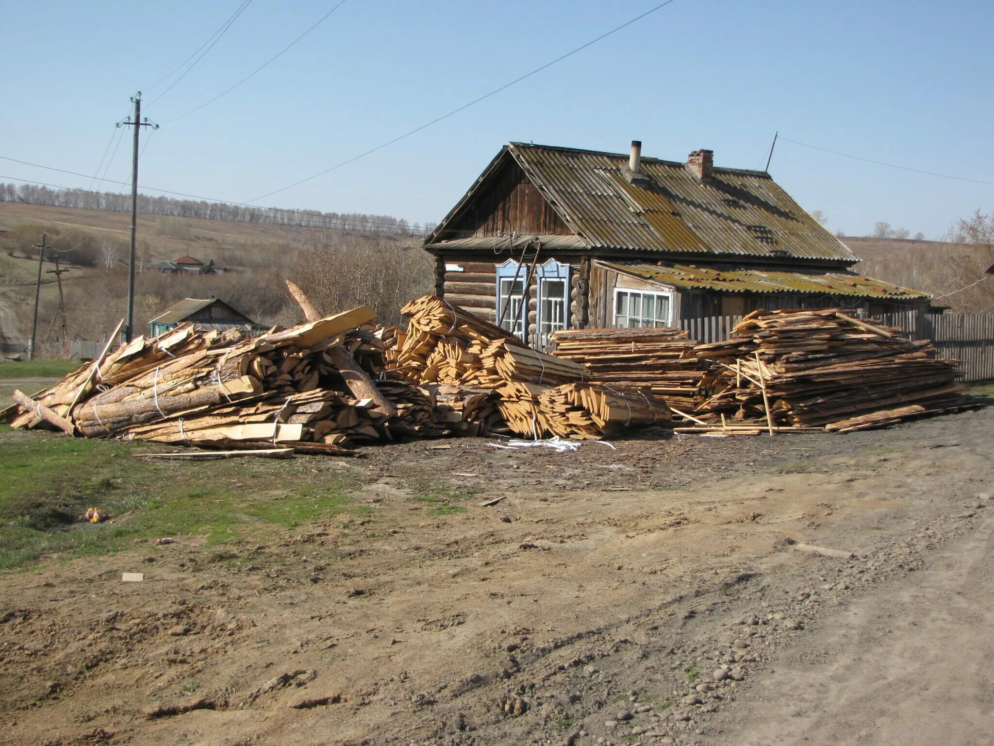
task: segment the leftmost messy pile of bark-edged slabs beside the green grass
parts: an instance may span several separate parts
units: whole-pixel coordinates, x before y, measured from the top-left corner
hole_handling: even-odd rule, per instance
[[[34,397],[17,392],[8,417],[85,437],[302,453],[442,434],[429,396],[384,379],[396,332],[375,318],[359,306],[254,338],[184,324],[104,350]]]

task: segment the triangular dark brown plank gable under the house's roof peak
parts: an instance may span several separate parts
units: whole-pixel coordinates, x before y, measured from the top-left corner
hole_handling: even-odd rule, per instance
[[[467,203],[438,239],[496,236],[501,231],[516,231],[523,236],[573,234],[521,166],[510,158],[508,165],[494,176],[490,188]]]

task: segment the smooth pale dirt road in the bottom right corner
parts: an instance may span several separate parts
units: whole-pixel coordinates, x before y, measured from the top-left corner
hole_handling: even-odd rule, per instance
[[[899,583],[823,620],[711,743],[981,746],[994,739],[994,516]]]

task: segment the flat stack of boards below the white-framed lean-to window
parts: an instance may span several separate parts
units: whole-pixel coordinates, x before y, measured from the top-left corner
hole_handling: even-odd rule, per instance
[[[590,381],[646,386],[671,407],[696,406],[704,369],[682,329],[567,329],[552,342],[552,354],[585,365]]]

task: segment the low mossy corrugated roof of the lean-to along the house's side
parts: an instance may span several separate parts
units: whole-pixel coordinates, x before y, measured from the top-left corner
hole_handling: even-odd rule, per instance
[[[622,265],[614,262],[596,264],[643,280],[723,292],[801,292],[890,300],[928,297],[927,293],[891,282],[843,273],[822,275],[750,269],[714,270],[688,265],[662,267],[648,264]]]

